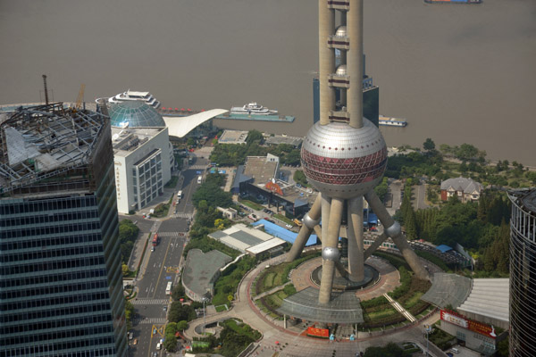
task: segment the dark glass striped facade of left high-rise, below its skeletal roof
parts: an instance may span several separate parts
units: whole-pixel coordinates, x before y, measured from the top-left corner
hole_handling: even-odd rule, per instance
[[[127,354],[113,151],[103,127],[86,165],[48,179],[56,192],[0,199],[0,357]],[[83,189],[68,188],[73,172]]]

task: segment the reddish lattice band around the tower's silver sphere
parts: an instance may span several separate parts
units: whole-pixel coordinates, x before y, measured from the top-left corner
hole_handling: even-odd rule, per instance
[[[345,159],[319,156],[302,149],[301,159],[309,179],[333,185],[355,185],[383,175],[387,148],[383,147],[374,154]]]

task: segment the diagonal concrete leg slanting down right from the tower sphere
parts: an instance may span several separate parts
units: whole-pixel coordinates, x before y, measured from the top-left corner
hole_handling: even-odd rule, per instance
[[[419,257],[407,243],[406,237],[402,235],[400,225],[389,215],[389,212],[387,212],[374,190],[371,189],[368,191],[364,195],[364,198],[369,203],[374,213],[376,213],[378,219],[381,220],[381,224],[383,225],[383,228],[385,228],[385,233],[393,240],[395,245],[397,245],[398,250],[400,253],[402,253],[404,259],[406,259],[406,262],[411,267],[411,270],[415,272],[415,275],[418,278],[430,280],[428,272],[424,269],[421,261],[419,261]]]

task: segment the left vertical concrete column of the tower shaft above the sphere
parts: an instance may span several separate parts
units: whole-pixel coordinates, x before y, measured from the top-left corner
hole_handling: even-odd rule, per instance
[[[318,61],[320,79],[320,123],[330,123],[335,108],[335,89],[328,85],[328,75],[335,71],[335,53],[328,47],[328,37],[335,32],[335,11],[326,0],[318,0]]]

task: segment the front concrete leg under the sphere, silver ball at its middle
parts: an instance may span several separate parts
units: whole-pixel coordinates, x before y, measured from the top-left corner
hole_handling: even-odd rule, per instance
[[[343,204],[344,200],[341,198],[331,199],[328,234],[327,236],[324,236],[326,238],[322,241],[322,280],[320,281],[318,303],[329,303],[331,299],[335,262],[339,260],[339,256],[336,253],[338,253],[337,243],[339,242],[339,229]]]

